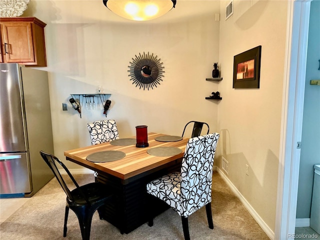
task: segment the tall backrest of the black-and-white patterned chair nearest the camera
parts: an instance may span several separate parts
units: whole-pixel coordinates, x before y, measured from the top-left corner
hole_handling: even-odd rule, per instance
[[[180,213],[188,216],[211,202],[213,159],[218,133],[190,138],[181,163]]]

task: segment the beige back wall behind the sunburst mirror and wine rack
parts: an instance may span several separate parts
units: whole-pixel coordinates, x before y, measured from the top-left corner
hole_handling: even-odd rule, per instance
[[[217,131],[218,102],[205,99],[217,84],[205,78],[219,57],[219,21],[214,21],[219,10],[218,1],[180,1],[158,19],[134,22],[116,16],[101,0],[30,1],[24,16],[47,23],[54,154],[64,159],[63,151],[90,144],[86,123],[105,119],[103,111],[83,107],[80,118],[68,99],[70,93],[94,93],[98,85],[111,93],[107,118],[116,120],[120,137],[134,135],[139,124],[180,135],[189,120]],[[153,90],[135,87],[128,77],[129,61],[143,51],[163,62],[163,81]],[[68,111],[62,111],[62,102]]]

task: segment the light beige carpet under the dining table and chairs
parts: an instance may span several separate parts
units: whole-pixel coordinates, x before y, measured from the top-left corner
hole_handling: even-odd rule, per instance
[[[80,185],[94,181],[91,174],[74,175]],[[212,217],[214,229],[208,227],[205,207],[189,216],[191,239],[269,239],[239,199],[217,172],[213,174]],[[65,194],[53,178],[30,200],[0,225],[1,240],[81,239],[75,214],[70,210],[68,231],[63,237]],[[180,216],[168,209],[153,220],[153,226],[142,224],[129,234],[119,230],[94,213],[90,239],[183,239]]]

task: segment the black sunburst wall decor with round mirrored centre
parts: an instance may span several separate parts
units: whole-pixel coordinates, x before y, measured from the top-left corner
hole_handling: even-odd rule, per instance
[[[130,65],[128,66],[129,77],[132,80],[132,84],[135,84],[135,87],[139,87],[139,89],[149,88],[153,89],[153,86],[157,87],[157,84],[160,84],[162,81],[161,77],[164,75],[162,66],[163,62],[160,62],[160,58],[157,59],[157,56],[154,56],[153,53],[151,55],[149,52],[145,54],[139,53],[139,55],[135,55],[135,58],[132,58],[132,62],[130,61]]]

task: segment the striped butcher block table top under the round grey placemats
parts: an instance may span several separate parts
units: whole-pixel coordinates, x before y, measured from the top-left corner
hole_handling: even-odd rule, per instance
[[[146,172],[170,161],[174,161],[183,156],[186,143],[189,138],[182,138],[178,141],[158,141],[155,137],[165,136],[165,134],[150,132],[148,133],[148,147],[136,147],[132,145],[112,145],[110,142],[85,146],[64,152],[67,160],[75,162],[95,171],[102,171],[120,179],[128,179],[140,173]],[[135,139],[135,136],[131,138]],[[181,152],[170,156],[154,156],[147,153],[147,150],[153,147],[176,147]],[[125,156],[119,160],[107,162],[92,162],[86,157],[99,151],[122,151]]]

